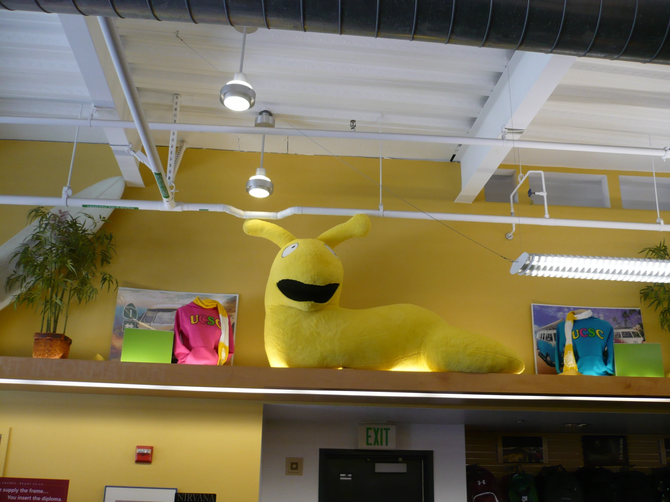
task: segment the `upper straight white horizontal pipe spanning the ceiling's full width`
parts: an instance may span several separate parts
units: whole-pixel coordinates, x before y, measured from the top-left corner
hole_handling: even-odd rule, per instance
[[[99,120],[86,118],[47,118],[27,116],[0,116],[0,124],[25,125],[68,125],[81,127],[119,127],[137,129],[129,120]],[[244,135],[293,136],[309,138],[370,139],[375,141],[407,141],[409,143],[444,143],[447,145],[481,145],[487,147],[505,147],[511,140],[497,138],[472,138],[461,136],[414,135],[401,133],[364,133],[362,131],[330,131],[327,129],[293,129],[271,127],[224,126],[208,124],[173,124],[172,122],[149,122],[153,131],[182,131],[185,133],[224,133]],[[613,145],[588,145],[582,143],[555,143],[553,141],[514,141],[518,148],[539,150],[563,150],[576,152],[618,153],[626,155],[652,155],[670,158],[670,147],[616,147]]]

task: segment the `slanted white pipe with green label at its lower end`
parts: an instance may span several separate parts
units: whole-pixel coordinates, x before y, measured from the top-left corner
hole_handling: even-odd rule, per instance
[[[98,23],[100,23],[103,37],[105,37],[105,42],[107,42],[107,48],[112,57],[114,68],[117,70],[128,108],[130,108],[133,120],[135,120],[135,129],[137,129],[142,145],[144,145],[148,167],[156,178],[163,202],[168,207],[174,207],[174,195],[167,189],[167,178],[165,177],[165,171],[163,171],[163,163],[161,163],[156,145],[153,143],[153,137],[149,131],[149,123],[142,109],[139,94],[137,94],[137,87],[133,81],[133,74],[131,74],[128,61],[125,58],[125,52],[123,52],[123,45],[117,31],[117,25],[115,25],[115,21],[111,17],[98,17]]]

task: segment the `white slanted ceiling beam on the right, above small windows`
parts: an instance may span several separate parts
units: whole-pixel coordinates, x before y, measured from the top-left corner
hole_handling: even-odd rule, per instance
[[[523,134],[574,60],[574,56],[515,52],[468,137],[500,138],[505,129]],[[513,141],[503,147],[462,147],[456,155],[461,163],[456,202],[474,201],[512,147]]]

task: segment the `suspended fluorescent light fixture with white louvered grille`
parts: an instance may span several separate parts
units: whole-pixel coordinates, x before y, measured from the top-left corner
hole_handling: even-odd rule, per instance
[[[523,253],[510,274],[574,279],[670,282],[670,260]]]

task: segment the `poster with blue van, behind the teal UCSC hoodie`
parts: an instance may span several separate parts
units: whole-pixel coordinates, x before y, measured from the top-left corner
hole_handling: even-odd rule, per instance
[[[618,309],[609,307],[567,307],[565,305],[531,304],[533,319],[533,353],[535,373],[555,375],[556,328],[565,321],[570,311],[580,309],[592,311],[594,317],[607,321],[614,328],[614,343],[644,343],[645,329],[640,309]],[[559,359],[563,357],[558,355]],[[560,363],[560,361],[559,361]]]

